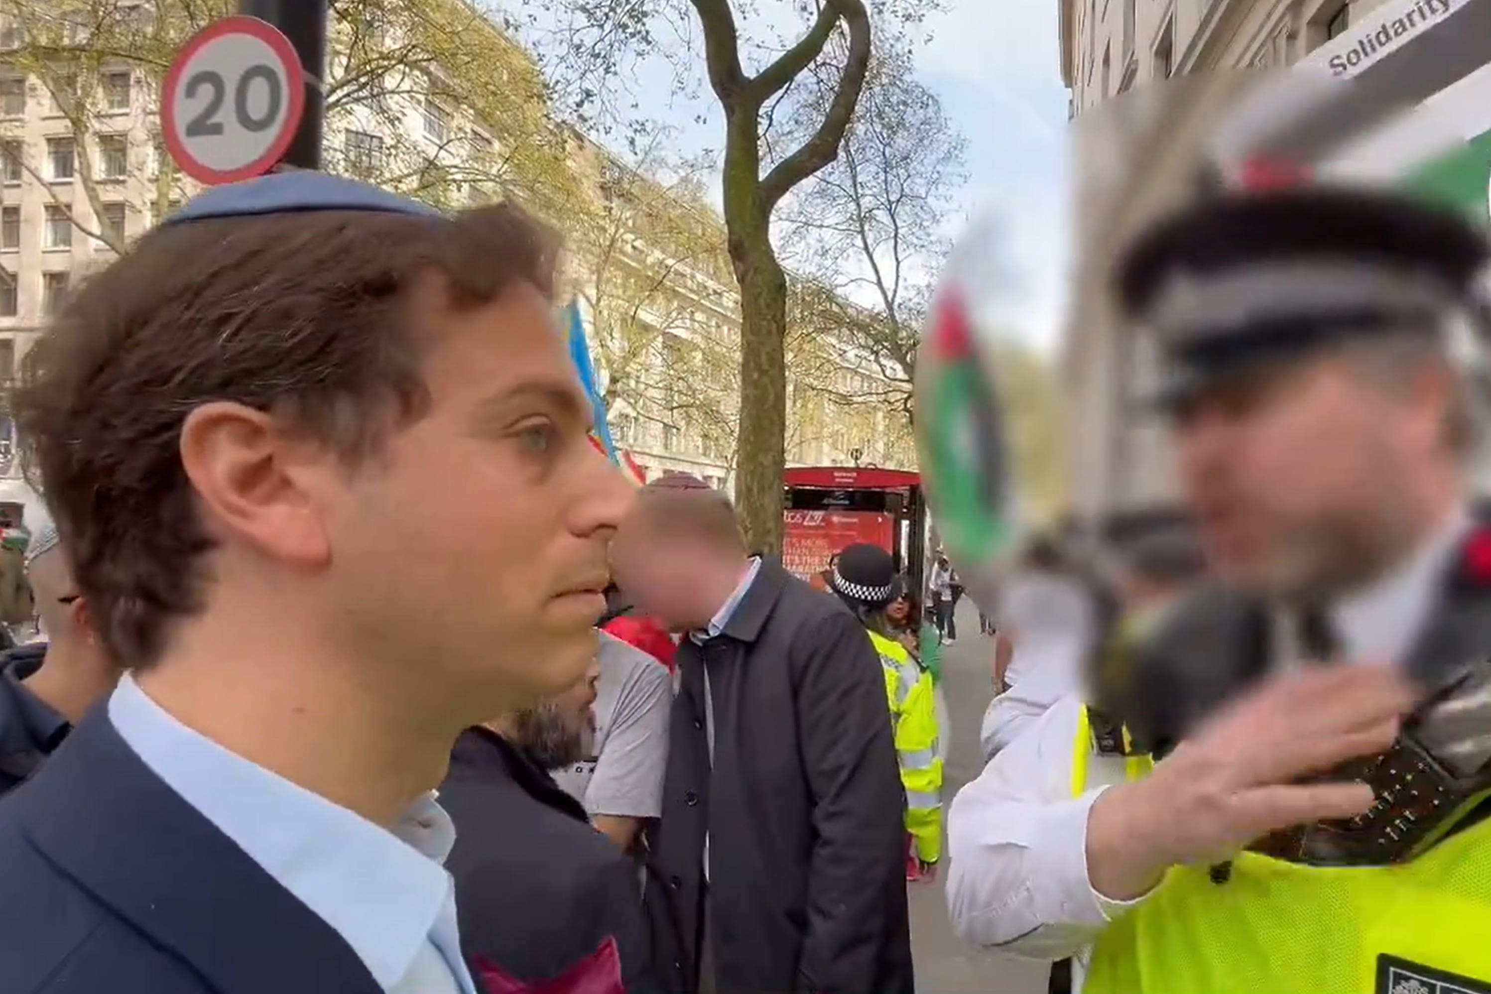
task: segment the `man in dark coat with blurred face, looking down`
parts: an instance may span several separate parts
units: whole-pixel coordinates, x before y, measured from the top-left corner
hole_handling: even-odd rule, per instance
[[[854,617],[746,553],[692,477],[643,490],[616,580],[687,633],[647,912],[669,991],[908,994],[905,796]]]

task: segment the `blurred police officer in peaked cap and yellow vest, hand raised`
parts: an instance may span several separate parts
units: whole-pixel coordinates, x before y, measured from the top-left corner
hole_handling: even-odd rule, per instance
[[[1491,721],[1461,694],[1457,735],[1403,724],[1491,648],[1467,496],[1487,258],[1458,218],[1345,188],[1224,194],[1130,247],[1120,300],[1167,358],[1226,589],[1139,677],[1188,702],[1157,730],[1173,753],[1071,697],[954,802],[963,936],[1081,951],[1088,994],[1488,990],[1491,824],[1463,747]]]

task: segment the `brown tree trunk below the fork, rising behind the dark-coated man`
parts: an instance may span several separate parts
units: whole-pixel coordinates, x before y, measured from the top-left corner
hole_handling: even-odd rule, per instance
[[[787,435],[787,279],[771,243],[732,252],[741,286],[741,420],[735,505],[751,551],[781,553]]]

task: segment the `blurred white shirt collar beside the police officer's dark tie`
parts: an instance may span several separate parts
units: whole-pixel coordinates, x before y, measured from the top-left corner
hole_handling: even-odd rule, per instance
[[[1439,583],[1470,526],[1461,508],[1396,569],[1331,607],[1348,662],[1403,660],[1428,623]]]

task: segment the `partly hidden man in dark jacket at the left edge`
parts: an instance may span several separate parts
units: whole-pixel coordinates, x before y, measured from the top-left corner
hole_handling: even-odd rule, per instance
[[[19,785],[119,681],[78,593],[57,538],[43,525],[25,550],[45,641],[0,656],[0,794]]]

